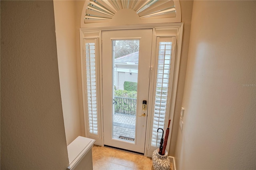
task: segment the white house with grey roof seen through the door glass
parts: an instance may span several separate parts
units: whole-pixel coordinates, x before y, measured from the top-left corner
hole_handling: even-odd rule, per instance
[[[139,51],[118,57],[114,62],[114,85],[124,90],[124,81],[138,81]]]

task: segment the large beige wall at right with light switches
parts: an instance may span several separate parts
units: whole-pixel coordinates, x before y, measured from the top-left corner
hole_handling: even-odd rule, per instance
[[[177,169],[256,169],[255,9],[194,1]]]

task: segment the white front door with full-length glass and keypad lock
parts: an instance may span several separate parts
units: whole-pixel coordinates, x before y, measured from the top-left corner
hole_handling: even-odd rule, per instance
[[[102,31],[104,145],[144,154],[151,47],[152,29]],[[124,77],[115,83],[117,63]]]

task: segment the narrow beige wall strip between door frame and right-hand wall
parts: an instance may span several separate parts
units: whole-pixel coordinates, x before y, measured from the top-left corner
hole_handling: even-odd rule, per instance
[[[183,91],[184,91],[184,84],[185,84],[184,82],[186,77],[186,66],[187,66],[187,60],[188,60],[188,46],[189,46],[189,38],[190,38],[190,25],[191,25],[193,1],[181,0],[180,8],[181,8],[181,21],[184,23],[184,28],[183,28],[183,36],[182,36],[182,49],[181,49],[181,55],[180,55],[178,87],[177,87],[176,103],[175,103],[174,118],[173,118],[174,120],[172,125],[172,136],[171,136],[171,141],[170,141],[170,146],[168,151],[168,154],[170,156],[174,156],[178,128],[179,128],[180,110],[181,110],[181,103],[183,98]]]

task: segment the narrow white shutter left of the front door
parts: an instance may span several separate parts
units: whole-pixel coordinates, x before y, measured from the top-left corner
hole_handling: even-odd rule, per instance
[[[91,137],[99,137],[99,109],[97,91],[97,39],[84,40],[84,92],[86,103],[87,134]]]

